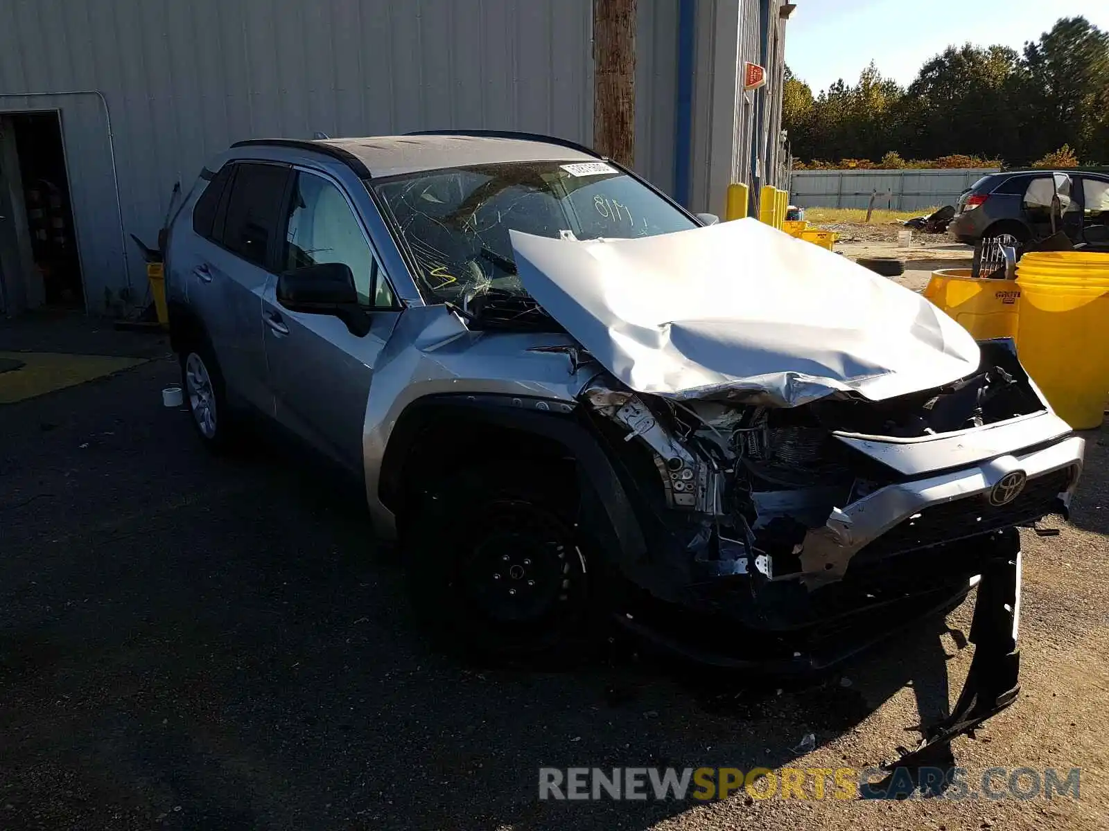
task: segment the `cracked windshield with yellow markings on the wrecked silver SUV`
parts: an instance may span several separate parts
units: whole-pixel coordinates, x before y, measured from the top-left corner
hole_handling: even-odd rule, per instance
[[[606,162],[451,167],[370,187],[404,234],[425,294],[464,307],[492,293],[527,297],[509,230],[597,239],[696,227],[688,214]]]

